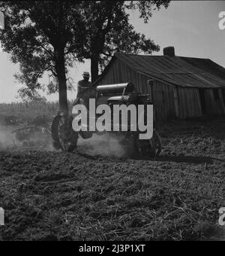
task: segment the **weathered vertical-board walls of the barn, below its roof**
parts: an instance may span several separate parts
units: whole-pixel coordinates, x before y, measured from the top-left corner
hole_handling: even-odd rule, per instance
[[[149,77],[134,72],[118,59],[115,59],[100,84],[132,82],[139,93],[151,94]],[[214,99],[212,89],[205,89],[207,114],[225,114],[223,92],[219,90],[219,99]],[[173,118],[191,118],[202,116],[202,105],[198,88],[176,87],[160,81],[154,82],[154,119],[171,120]]]

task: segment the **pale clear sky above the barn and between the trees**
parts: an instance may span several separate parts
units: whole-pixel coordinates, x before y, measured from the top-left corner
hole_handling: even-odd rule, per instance
[[[137,11],[130,11],[130,23],[137,32],[142,32],[147,38],[163,47],[175,47],[175,55],[208,58],[225,67],[225,30],[220,30],[219,14],[225,11],[223,1],[172,1],[169,8],[154,11],[153,17],[145,24],[139,19]],[[90,62],[76,63],[71,70],[74,87],[82,79],[84,71],[90,72]],[[7,53],[0,52],[0,103],[17,102],[17,90],[21,87],[13,74],[19,72],[19,65],[10,62]],[[47,84],[48,77],[41,80]],[[75,99],[74,91],[68,92],[68,99]],[[58,100],[58,95],[46,96],[50,101]]]

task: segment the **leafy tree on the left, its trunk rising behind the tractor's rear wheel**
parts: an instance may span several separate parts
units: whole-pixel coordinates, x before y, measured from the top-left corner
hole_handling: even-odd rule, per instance
[[[40,87],[43,73],[50,72],[58,79],[60,108],[68,112],[68,67],[82,60],[80,2],[10,1],[1,2],[0,9],[5,14],[1,47],[13,62],[20,62],[22,75],[17,77],[32,91]],[[71,44],[76,48],[73,52]]]

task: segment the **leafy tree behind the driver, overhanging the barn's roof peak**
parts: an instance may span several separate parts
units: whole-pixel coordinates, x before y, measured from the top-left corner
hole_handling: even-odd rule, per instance
[[[113,53],[152,53],[160,50],[157,44],[145,35],[134,31],[127,10],[139,10],[145,23],[152,10],[167,8],[169,1],[87,1],[83,3],[86,44],[83,56],[91,59],[92,82],[98,79],[99,66],[107,65]]]

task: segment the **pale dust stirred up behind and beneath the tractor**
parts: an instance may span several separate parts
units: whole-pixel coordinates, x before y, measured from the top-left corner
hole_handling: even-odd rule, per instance
[[[28,139],[18,141],[13,133],[17,128],[17,126],[0,125],[0,150],[56,151],[50,134],[31,133]],[[98,157],[127,157],[127,150],[121,145],[123,138],[110,133],[102,136],[94,134],[91,139],[78,139],[77,151]]]

